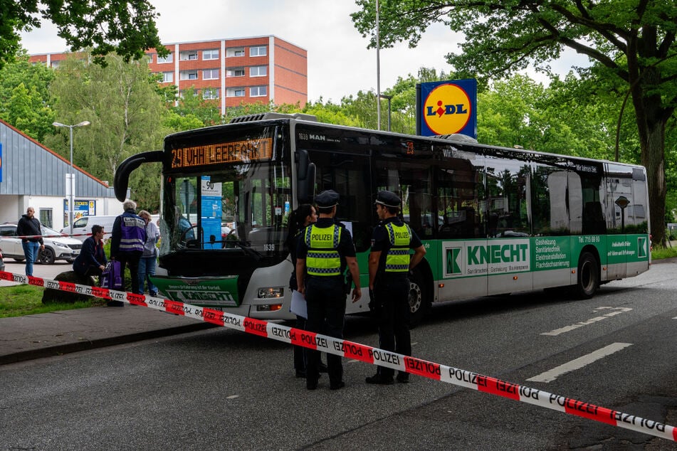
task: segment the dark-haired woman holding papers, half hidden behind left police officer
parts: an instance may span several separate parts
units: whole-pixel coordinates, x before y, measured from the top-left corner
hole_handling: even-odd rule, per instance
[[[289,255],[293,265],[291,277],[289,278],[289,288],[294,296],[294,292],[298,292],[298,285],[296,285],[296,250],[298,248],[298,240],[301,238],[301,232],[305,230],[311,223],[317,222],[317,211],[310,203],[303,203],[294,211],[291,212],[288,218],[288,234],[285,240],[285,245],[289,249]],[[306,313],[306,316],[308,314]],[[296,329],[305,330],[306,318],[300,314],[296,315]],[[305,378],[305,368],[308,363],[308,354],[303,346],[294,346],[294,370],[296,377]],[[320,361],[318,368],[320,373],[327,372],[327,366]]]

